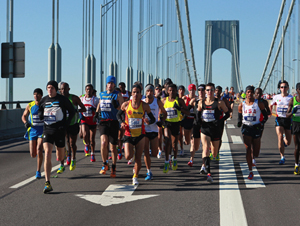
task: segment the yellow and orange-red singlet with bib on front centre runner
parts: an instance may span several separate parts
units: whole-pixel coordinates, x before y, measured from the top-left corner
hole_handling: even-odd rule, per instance
[[[129,101],[127,110],[125,112],[125,136],[138,137],[145,134],[144,115],[145,111],[143,108],[143,101],[140,106],[135,109],[131,105],[132,100]]]

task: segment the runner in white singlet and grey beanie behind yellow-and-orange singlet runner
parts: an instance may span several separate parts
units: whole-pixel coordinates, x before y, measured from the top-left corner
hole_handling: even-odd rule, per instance
[[[147,176],[145,180],[152,180],[153,175],[151,172],[151,158],[149,153],[149,145],[152,150],[152,156],[157,156],[158,152],[158,128],[162,127],[162,122],[167,117],[167,112],[163,107],[163,103],[161,100],[154,97],[154,86],[152,84],[148,84],[145,87],[146,91],[146,98],[142,99],[145,103],[149,104],[149,107],[151,109],[151,112],[153,116],[156,119],[156,124],[147,125],[145,124],[145,147],[144,147],[144,161],[147,168]],[[158,121],[159,112],[163,114],[163,116],[160,116],[160,121]],[[147,113],[145,114],[145,117],[149,120],[149,117]]]

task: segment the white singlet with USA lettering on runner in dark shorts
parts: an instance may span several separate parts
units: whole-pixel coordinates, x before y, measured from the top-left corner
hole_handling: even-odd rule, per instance
[[[258,100],[255,99],[252,105],[247,105],[245,101],[243,101],[243,121],[242,123],[247,126],[253,126],[255,124],[260,123],[261,110],[258,106]]]

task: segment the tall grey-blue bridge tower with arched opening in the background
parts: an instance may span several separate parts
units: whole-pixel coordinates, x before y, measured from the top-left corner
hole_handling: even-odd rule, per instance
[[[243,89],[240,76],[239,21],[205,21],[204,82],[212,82],[212,54],[224,48],[231,52],[231,86],[235,91]]]

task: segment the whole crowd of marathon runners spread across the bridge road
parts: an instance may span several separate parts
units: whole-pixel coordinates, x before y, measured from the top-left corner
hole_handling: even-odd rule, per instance
[[[190,144],[190,160],[193,166],[196,151],[202,143],[202,166],[200,173],[207,175],[207,181],[213,182],[212,160],[219,161],[224,125],[232,118],[235,93],[233,87],[222,90],[213,83],[198,87],[176,86],[166,79],[163,86],[135,82],[131,91],[125,83],[116,86],[114,76],[106,78],[106,90],[97,97],[97,91],[91,84],[85,86],[85,94],[70,94],[66,82],[49,81],[47,95],[37,88],[33,91],[34,101],[29,103],[22,116],[27,129],[25,138],[29,140],[31,157],[37,156],[36,178],[41,178],[41,166],[44,161],[44,193],[52,191],[50,184],[51,153],[56,148],[56,159],[61,162],[57,173],[65,171],[65,165],[71,171],[76,168],[77,137],[83,139],[85,156],[95,162],[95,139],[99,129],[101,140],[100,174],[115,178],[117,160],[123,156],[128,165],[134,164],[132,184],[137,185],[142,167],[142,155],[147,174],[145,180],[152,180],[151,156],[164,156],[163,173],[177,170],[178,155],[184,154],[183,144]],[[238,123],[241,127],[246,148],[246,160],[249,168],[248,179],[254,175],[252,167],[260,153],[264,124],[271,116],[272,107],[277,105],[275,127],[280,152],[279,164],[285,163],[284,147],[295,142],[295,169],[299,175],[300,150],[300,83],[297,84],[295,97],[288,95],[288,83],[280,83],[281,94],[276,95],[270,106],[262,99],[262,90],[253,86],[245,89],[244,100],[238,106]],[[144,90],[144,95],[142,94]],[[187,94],[186,94],[187,93]],[[180,150],[178,152],[178,145]],[[43,150],[45,158],[43,157]],[[109,160],[111,159],[111,166]],[[66,164],[65,162],[66,161]],[[99,161],[99,160],[97,160]]]

